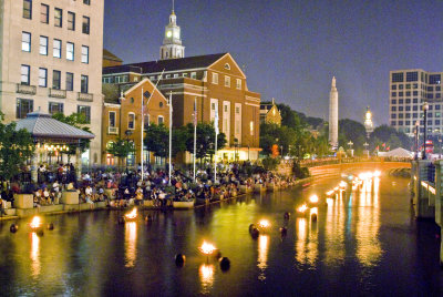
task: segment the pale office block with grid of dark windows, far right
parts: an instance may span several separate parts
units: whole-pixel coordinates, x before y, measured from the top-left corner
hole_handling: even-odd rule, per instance
[[[415,123],[419,121],[420,133],[424,133],[423,103],[427,102],[427,135],[441,135],[442,75],[443,72],[426,72],[421,69],[390,71],[389,124],[396,131],[413,136]]]

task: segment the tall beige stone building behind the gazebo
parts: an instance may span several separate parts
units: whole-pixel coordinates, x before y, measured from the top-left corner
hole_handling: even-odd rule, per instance
[[[100,163],[104,0],[0,1],[0,110],[7,122],[41,110],[83,113]]]

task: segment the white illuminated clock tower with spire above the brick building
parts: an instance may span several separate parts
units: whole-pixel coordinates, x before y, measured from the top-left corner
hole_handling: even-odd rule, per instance
[[[177,25],[177,16],[173,12],[169,16],[169,23],[165,28],[165,38],[163,45],[159,48],[159,59],[179,59],[185,58],[185,47],[182,45],[181,29]]]

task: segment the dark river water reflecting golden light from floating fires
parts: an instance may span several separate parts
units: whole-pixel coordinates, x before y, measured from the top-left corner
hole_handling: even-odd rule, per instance
[[[4,296],[441,296],[439,228],[415,222],[408,180],[382,176],[319,206],[318,222],[296,216],[312,194],[339,178],[237,198],[195,211],[155,213],[154,222],[117,225],[117,212],[48,216],[54,231],[38,237],[28,221],[10,234],[0,225],[0,295]],[[278,228],[291,212],[288,235]],[[308,211],[309,212],[309,211]],[[145,215],[148,212],[144,213]],[[266,235],[248,226],[268,218]],[[231,267],[198,250],[214,243]],[[174,255],[184,253],[177,268]]]

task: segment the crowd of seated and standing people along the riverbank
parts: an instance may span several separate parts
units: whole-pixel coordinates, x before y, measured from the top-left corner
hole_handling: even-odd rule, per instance
[[[249,165],[250,166],[250,165]],[[219,164],[217,181],[214,182],[214,168],[208,166],[196,172],[173,170],[172,177],[166,170],[147,167],[138,171],[89,172],[78,180],[72,164],[60,164],[49,172],[44,165],[38,171],[38,183],[11,183],[1,185],[0,198],[11,201],[13,194],[33,195],[34,207],[61,203],[63,191],[78,191],[79,203],[94,204],[105,202],[110,207],[150,205],[168,207],[173,202],[208,203],[236,196],[239,186],[253,187],[255,184],[282,183],[284,177],[271,172],[246,172],[245,164]],[[150,203],[145,203],[150,202]]]

